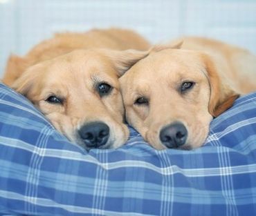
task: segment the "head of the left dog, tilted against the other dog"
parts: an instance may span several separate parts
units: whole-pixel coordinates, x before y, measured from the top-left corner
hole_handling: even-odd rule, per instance
[[[143,52],[75,50],[31,66],[12,88],[25,95],[68,139],[118,148],[128,129],[118,78]]]

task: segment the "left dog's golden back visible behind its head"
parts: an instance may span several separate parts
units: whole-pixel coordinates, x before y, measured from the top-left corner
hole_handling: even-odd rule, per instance
[[[39,43],[24,57],[11,55],[3,75],[3,83],[10,86],[29,66],[82,48],[147,50],[149,43],[134,31],[118,28],[94,29],[84,33],[58,33],[55,37]]]

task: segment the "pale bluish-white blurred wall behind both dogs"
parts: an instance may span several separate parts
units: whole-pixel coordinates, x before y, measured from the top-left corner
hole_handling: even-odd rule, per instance
[[[256,54],[255,0],[0,0],[0,76],[10,53],[24,55],[54,32],[112,26],[152,43],[201,35]]]

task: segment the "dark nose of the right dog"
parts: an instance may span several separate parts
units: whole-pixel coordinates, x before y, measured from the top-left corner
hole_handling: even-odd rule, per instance
[[[179,148],[185,144],[188,130],[179,122],[170,124],[160,131],[160,140],[167,148]]]

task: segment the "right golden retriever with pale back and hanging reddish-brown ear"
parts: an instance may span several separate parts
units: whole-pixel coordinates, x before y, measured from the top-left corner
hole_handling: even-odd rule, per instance
[[[159,46],[120,78],[127,121],[156,149],[203,145],[212,117],[256,90],[256,57],[210,39]]]

